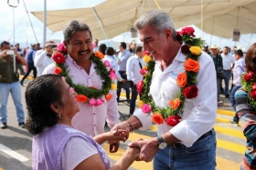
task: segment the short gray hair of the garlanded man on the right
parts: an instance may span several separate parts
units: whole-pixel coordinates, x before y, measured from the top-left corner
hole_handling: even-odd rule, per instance
[[[173,39],[176,40],[176,28],[171,17],[164,11],[152,10],[142,15],[134,23],[134,28],[141,30],[146,25],[151,25],[155,28],[158,35],[163,35],[166,28],[172,30]]]

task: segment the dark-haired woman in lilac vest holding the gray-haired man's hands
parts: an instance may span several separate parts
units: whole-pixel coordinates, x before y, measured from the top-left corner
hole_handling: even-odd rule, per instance
[[[110,167],[108,155],[99,144],[110,139],[126,140],[126,134],[108,132],[91,138],[73,128],[71,119],[80,111],[76,95],[59,75],[42,75],[27,85],[27,130],[34,135],[33,169],[127,169],[139,149],[128,147]]]

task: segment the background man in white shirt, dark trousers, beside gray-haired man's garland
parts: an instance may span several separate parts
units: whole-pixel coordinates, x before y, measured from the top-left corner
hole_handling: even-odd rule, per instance
[[[142,81],[144,79],[144,76],[140,74],[140,70],[142,67],[145,65],[143,57],[144,57],[144,50],[142,46],[137,46],[136,55],[131,56],[127,60],[126,64],[126,75],[127,75],[127,80],[133,81],[133,88],[132,88],[132,99],[130,102],[130,115],[133,115],[134,109],[135,109],[135,104],[136,104],[136,99],[138,96],[137,92],[137,83]]]

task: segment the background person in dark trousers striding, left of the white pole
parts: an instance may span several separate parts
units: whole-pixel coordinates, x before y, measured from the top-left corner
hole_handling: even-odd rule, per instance
[[[37,68],[34,65],[34,58],[37,53],[37,45],[31,45],[31,49],[27,51],[27,73],[23,76],[23,78],[20,81],[20,85],[23,86],[24,80],[27,78],[27,76],[30,74],[30,72],[33,70],[34,78],[37,78]]]

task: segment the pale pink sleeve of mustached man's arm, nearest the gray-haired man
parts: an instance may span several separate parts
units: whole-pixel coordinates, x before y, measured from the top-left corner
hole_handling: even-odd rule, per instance
[[[106,121],[108,126],[112,128],[114,125],[119,124],[119,112],[118,112],[118,105],[116,101],[116,91],[111,90],[110,95],[112,98],[107,103],[107,118]]]

